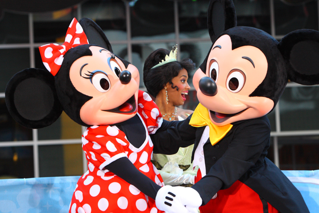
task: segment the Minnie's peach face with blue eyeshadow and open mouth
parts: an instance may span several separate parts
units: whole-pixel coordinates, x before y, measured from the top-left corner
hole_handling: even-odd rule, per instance
[[[137,113],[139,73],[104,48],[91,46],[92,56],[84,56],[70,68],[70,79],[81,93],[91,96],[80,109],[81,120],[89,125],[110,125],[126,121]],[[121,82],[128,70],[132,79]]]

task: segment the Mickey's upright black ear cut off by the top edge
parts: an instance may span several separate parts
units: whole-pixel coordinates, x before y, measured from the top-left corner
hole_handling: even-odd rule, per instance
[[[237,26],[235,6],[232,0],[211,0],[207,12],[207,26],[212,42],[225,30]]]

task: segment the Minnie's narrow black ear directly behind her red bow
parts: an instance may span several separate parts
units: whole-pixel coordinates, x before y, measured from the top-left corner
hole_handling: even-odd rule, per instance
[[[82,18],[79,23],[86,34],[89,44],[98,45],[113,53],[111,44],[100,26],[89,18]]]

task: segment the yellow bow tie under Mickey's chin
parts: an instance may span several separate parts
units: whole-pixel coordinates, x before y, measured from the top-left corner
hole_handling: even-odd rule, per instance
[[[210,119],[209,110],[205,108],[201,103],[196,107],[189,125],[194,127],[209,126],[210,127],[210,141],[212,145],[215,145],[220,141],[233,127],[232,124],[226,124],[224,126],[217,126],[213,124]]]

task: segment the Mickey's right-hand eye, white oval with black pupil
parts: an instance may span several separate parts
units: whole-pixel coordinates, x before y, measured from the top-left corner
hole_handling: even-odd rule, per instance
[[[245,74],[239,69],[233,69],[227,77],[226,87],[231,92],[239,92],[246,81]]]

